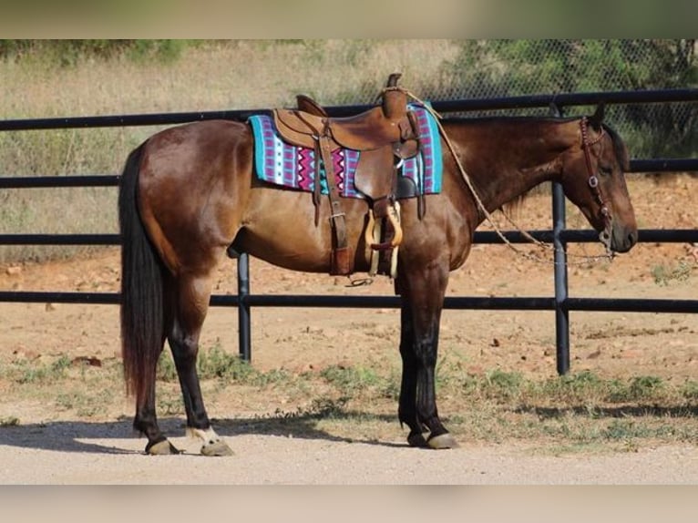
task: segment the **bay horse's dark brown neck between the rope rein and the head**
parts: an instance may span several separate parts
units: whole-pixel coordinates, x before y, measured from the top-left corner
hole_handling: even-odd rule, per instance
[[[562,155],[580,144],[578,120],[464,119],[444,129],[488,212],[559,179]]]

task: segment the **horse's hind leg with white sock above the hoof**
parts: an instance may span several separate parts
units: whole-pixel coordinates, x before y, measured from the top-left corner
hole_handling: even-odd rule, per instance
[[[180,380],[187,434],[198,436],[203,442],[202,455],[231,456],[231,447],[210,426],[196,368],[201,327],[209,307],[210,278],[180,278],[179,282],[173,282],[172,292],[174,300],[168,340]]]

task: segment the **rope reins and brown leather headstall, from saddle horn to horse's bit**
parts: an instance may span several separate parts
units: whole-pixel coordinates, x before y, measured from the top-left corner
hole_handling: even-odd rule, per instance
[[[526,252],[526,251],[521,251],[517,249],[517,247],[511,243],[511,241],[508,241],[508,238],[504,235],[504,233],[499,229],[497,222],[492,218],[492,214],[485,208],[485,204],[480,200],[479,196],[477,195],[477,191],[475,190],[475,187],[473,186],[472,181],[470,180],[470,177],[467,176],[466,169],[463,167],[463,164],[460,162],[460,159],[458,159],[458,156],[456,154],[456,149],[454,149],[453,144],[451,143],[451,140],[448,139],[448,136],[446,134],[446,131],[444,130],[443,126],[441,125],[441,122],[439,121],[442,117],[440,114],[438,114],[431,106],[426,104],[423,100],[420,98],[416,97],[413,93],[411,93],[409,90],[403,88],[403,87],[386,87],[385,90],[387,89],[400,89],[403,92],[405,92],[405,95],[408,97],[413,98],[417,103],[421,104],[424,108],[426,108],[427,111],[429,111],[436,119],[436,125],[438,126],[439,133],[441,134],[441,137],[444,138],[444,141],[447,144],[448,150],[451,151],[451,155],[453,156],[453,159],[456,161],[458,170],[460,171],[461,177],[463,180],[466,182],[467,188],[470,190],[470,192],[473,195],[473,198],[475,199],[477,203],[477,208],[482,211],[483,215],[485,218],[488,220],[490,225],[494,228],[494,231],[497,233],[499,239],[505,243],[505,245],[508,246],[509,249],[512,251],[516,252],[520,256],[523,256],[524,258],[527,258],[533,262],[541,262],[541,263],[553,263],[553,264],[558,264],[559,262],[555,262],[554,260],[550,262],[548,259],[543,259],[540,258],[538,255]],[[379,95],[380,96],[380,95]],[[603,128],[601,128],[601,132],[599,133],[599,136],[596,137],[593,141],[590,141],[589,139],[589,134],[588,134],[588,128],[587,128],[587,118],[582,117],[580,120],[580,129],[581,129],[581,147],[584,150],[584,159],[586,160],[587,163],[587,170],[589,172],[589,186],[591,191],[594,193],[596,196],[596,199],[599,201],[600,206],[601,206],[601,214],[604,217],[604,221],[606,223],[606,226],[603,231],[600,232],[600,241],[603,243],[605,249],[606,249],[606,254],[604,255],[596,255],[596,256],[589,256],[589,255],[574,255],[570,254],[569,252],[565,251],[564,249],[562,251],[565,252],[565,254],[568,257],[571,258],[577,258],[580,259],[580,262],[565,262],[567,265],[582,265],[586,262],[591,262],[591,261],[596,261],[600,259],[607,259],[607,260],[612,260],[613,256],[615,253],[611,251],[611,213],[608,210],[608,207],[606,206],[603,197],[601,196],[601,191],[599,187],[599,179],[594,175],[593,173],[593,168],[591,167],[591,146],[597,144],[600,142],[600,139],[603,138]],[[519,227],[514,220],[512,220],[504,210],[500,210],[504,218],[517,230],[519,231],[524,238],[526,238],[528,241],[531,243],[537,245],[539,248],[546,250],[546,251],[558,251],[556,247],[551,244],[547,243],[545,241],[539,241],[533,236],[530,235],[528,231],[525,231],[521,227]]]

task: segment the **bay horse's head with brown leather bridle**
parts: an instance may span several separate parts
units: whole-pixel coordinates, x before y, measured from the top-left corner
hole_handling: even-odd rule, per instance
[[[565,195],[599,231],[609,253],[630,251],[638,231],[625,183],[628,150],[618,134],[603,124],[603,105],[578,122],[579,147],[572,147],[563,159]]]

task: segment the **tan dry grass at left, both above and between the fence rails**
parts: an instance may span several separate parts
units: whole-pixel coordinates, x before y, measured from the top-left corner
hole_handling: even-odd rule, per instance
[[[175,62],[118,56],[60,67],[46,56],[5,60],[0,114],[65,118],[272,108],[292,105],[298,93],[324,105],[369,103],[395,71],[419,92],[455,50],[447,40],[243,40],[187,47]],[[0,132],[0,176],[116,174],[128,151],[158,129]],[[0,233],[116,232],[116,197],[115,189],[0,190]],[[0,246],[0,262],[84,251]]]

